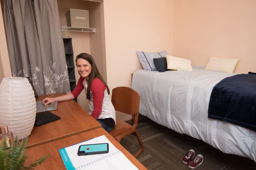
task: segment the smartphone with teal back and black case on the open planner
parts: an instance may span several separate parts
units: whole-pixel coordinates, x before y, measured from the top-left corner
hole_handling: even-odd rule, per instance
[[[78,148],[77,155],[94,155],[108,153],[108,143],[97,143],[89,145],[80,145]]]

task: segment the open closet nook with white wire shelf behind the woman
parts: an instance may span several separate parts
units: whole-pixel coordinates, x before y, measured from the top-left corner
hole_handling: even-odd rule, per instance
[[[73,90],[80,77],[75,58],[83,52],[93,56],[101,76],[106,81],[103,0],[57,0],[57,2],[64,46],[68,41],[72,44],[72,51],[65,51],[71,81],[70,90]],[[67,27],[66,12],[69,9],[88,10],[90,28]],[[88,110],[84,101],[86,101],[85,95],[80,94],[77,103]]]

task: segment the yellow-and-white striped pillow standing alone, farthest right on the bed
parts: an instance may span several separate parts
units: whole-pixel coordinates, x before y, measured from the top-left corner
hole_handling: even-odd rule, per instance
[[[223,73],[233,73],[240,58],[210,57],[205,70]]]

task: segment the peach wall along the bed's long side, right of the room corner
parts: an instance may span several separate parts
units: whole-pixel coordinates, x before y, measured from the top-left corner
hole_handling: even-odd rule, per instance
[[[235,72],[256,72],[255,9],[255,0],[175,0],[173,55],[203,66],[240,58]]]

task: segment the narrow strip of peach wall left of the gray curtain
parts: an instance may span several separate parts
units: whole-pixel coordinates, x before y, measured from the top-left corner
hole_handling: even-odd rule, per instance
[[[2,3],[3,1],[1,1]],[[3,5],[0,4],[1,6]],[[11,65],[9,60],[7,42],[5,38],[4,20],[2,15],[2,7],[0,7],[0,83],[4,77],[12,77]]]

